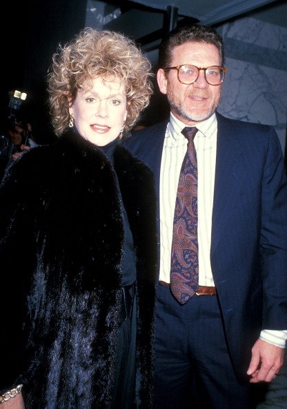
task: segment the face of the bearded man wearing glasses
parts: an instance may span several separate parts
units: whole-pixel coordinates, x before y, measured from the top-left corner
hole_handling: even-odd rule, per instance
[[[170,67],[190,64],[197,67],[221,65],[219,51],[213,44],[184,43],[173,49]],[[209,118],[217,108],[221,96],[221,84],[209,85],[204,71],[199,71],[195,83],[186,85],[179,82],[177,70],[157,72],[159,90],[166,94],[170,110],[176,118],[186,125],[195,125]]]

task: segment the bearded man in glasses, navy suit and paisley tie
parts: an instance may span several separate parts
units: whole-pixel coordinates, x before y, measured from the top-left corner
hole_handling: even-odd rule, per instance
[[[216,112],[226,68],[212,28],[172,33],[159,66],[170,119],[126,143],[154,172],[159,198],[155,408],[254,408],[253,384],[278,375],[287,338],[287,182],[279,139],[273,127]],[[185,127],[197,128],[188,170],[193,222],[180,229],[173,227],[177,185],[192,144]],[[176,271],[186,260],[188,269]],[[181,273],[196,286],[178,301]]]

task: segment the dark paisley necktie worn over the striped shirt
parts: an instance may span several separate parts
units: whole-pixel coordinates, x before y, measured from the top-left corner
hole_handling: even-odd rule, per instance
[[[173,222],[170,289],[181,304],[198,288],[197,152],[193,142],[198,129],[185,127],[188,149],[181,166]]]

